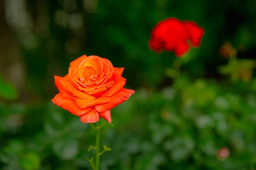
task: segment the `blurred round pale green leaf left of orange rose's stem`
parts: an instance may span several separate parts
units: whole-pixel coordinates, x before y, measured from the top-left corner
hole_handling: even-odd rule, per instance
[[[78,145],[76,139],[59,140],[53,145],[53,152],[62,160],[70,160],[78,154]]]

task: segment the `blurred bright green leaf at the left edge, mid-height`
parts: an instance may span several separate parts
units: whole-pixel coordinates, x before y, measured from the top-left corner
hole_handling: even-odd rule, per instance
[[[7,100],[15,100],[19,93],[11,82],[6,81],[0,74],[0,97]]]

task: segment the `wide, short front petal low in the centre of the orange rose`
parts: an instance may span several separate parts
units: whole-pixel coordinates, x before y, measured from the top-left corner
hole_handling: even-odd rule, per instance
[[[105,104],[108,102],[110,102],[109,97],[99,97],[99,98],[93,99],[93,100],[79,99],[79,98],[76,99],[76,105],[81,109],[99,105],[99,104]]]

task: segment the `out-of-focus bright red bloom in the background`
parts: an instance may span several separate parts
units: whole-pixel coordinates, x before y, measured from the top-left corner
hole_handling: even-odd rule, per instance
[[[182,57],[189,51],[188,40],[193,47],[198,47],[203,36],[204,29],[195,22],[170,17],[152,29],[149,47],[156,52],[174,51],[177,57]]]

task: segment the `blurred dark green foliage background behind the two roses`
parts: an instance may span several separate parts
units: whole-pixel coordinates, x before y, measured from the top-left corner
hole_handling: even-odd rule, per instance
[[[256,1],[20,0],[16,13],[14,2],[1,3],[26,68],[23,88],[0,76],[1,169],[90,169],[95,131],[50,101],[53,76],[83,54],[125,67],[136,90],[111,110],[114,126],[102,127],[101,145],[112,150],[101,170],[256,169],[256,78],[234,79],[255,67]],[[183,58],[150,51],[151,29],[167,17],[202,26],[200,48]],[[219,56],[225,41],[237,59]],[[230,156],[221,161],[223,147]]]

